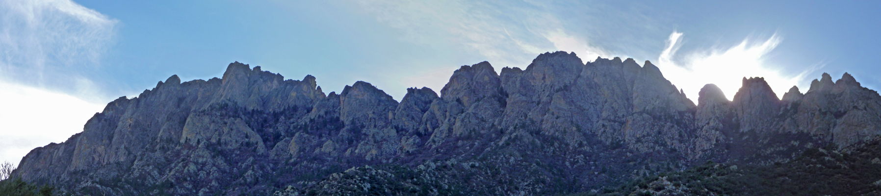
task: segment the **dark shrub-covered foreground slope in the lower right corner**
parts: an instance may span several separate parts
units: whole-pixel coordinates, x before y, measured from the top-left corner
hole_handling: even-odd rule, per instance
[[[881,142],[808,149],[787,163],[707,163],[573,195],[881,195]]]

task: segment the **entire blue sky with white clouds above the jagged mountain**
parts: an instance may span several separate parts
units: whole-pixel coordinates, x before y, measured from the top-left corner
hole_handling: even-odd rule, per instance
[[[219,77],[238,61],[342,91],[373,83],[400,100],[440,91],[488,61],[544,52],[658,65],[696,100],[743,76],[782,96],[823,72],[881,87],[876,1],[69,1],[0,0],[0,159],[82,131],[108,101],[168,76]],[[47,123],[48,121],[53,123]],[[2,161],[0,160],[0,161]]]

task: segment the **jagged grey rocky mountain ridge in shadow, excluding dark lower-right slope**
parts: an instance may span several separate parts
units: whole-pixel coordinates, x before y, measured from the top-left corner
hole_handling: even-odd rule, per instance
[[[13,175],[93,195],[555,194],[881,134],[881,97],[848,74],[782,100],[761,77],[743,83],[731,101],[707,84],[694,105],[651,62],[556,52],[500,74],[462,66],[441,96],[411,88],[398,103],[233,62],[116,99]]]

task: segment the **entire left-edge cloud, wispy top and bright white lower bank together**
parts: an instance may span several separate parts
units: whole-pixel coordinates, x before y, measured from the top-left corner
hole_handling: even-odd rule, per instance
[[[117,23],[70,0],[0,0],[0,159],[63,142],[100,112],[83,73],[100,67]]]

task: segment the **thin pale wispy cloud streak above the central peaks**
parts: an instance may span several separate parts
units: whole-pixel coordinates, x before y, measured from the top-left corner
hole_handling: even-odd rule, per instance
[[[449,41],[486,57],[498,69],[525,67],[537,54],[558,50],[580,56],[608,53],[567,32],[545,4],[475,1],[359,1],[359,9],[417,43]]]

